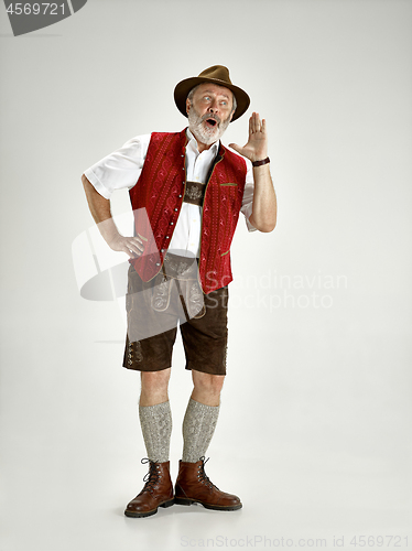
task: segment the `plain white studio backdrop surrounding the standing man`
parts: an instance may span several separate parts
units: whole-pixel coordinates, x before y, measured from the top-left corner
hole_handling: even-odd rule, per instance
[[[412,543],[411,17],[409,0],[88,0],[14,37],[0,7],[1,549]],[[121,367],[117,302],[76,283],[72,245],[93,226],[80,176],[133,136],[182,130],[174,86],[214,64],[251,97],[223,141],[267,119],[279,201],[273,233],[239,220],[208,451],[245,507],[133,521],[139,375]],[[172,371],[175,475],[181,343]]]

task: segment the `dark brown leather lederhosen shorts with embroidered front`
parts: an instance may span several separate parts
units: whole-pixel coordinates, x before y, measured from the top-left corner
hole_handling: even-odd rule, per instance
[[[123,367],[139,371],[171,367],[180,325],[185,368],[226,375],[228,288],[204,294],[197,263],[180,259],[167,255],[163,271],[149,282],[129,268]]]

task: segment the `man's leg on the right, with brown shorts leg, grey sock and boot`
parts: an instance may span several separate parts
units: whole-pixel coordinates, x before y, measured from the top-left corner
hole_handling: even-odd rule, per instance
[[[215,432],[226,375],[227,288],[204,296],[205,314],[181,325],[186,369],[194,389],[183,421],[183,458],[175,484],[175,504],[199,503],[208,509],[237,510],[237,496],[220,491],[206,476],[205,454]]]

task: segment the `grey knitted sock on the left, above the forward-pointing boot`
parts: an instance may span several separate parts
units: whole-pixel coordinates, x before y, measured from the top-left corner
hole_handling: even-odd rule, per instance
[[[149,460],[155,463],[169,461],[172,434],[169,400],[155,406],[139,406],[139,418]]]

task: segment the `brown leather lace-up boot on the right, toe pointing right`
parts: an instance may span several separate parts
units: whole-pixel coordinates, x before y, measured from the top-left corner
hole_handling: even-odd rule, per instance
[[[200,457],[197,463],[180,461],[174,503],[178,505],[202,504],[206,509],[219,511],[241,509],[242,505],[237,496],[220,491],[206,476],[206,461],[205,457]]]

